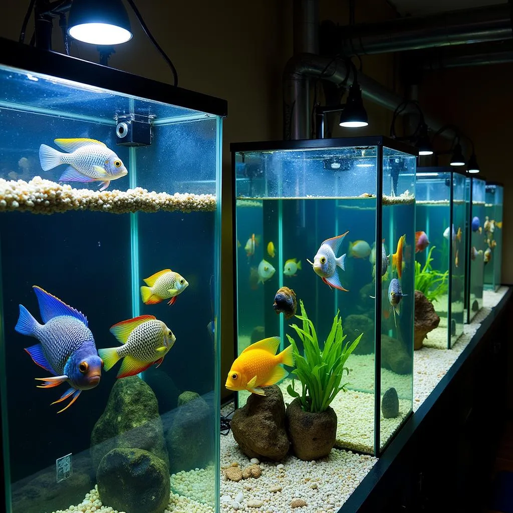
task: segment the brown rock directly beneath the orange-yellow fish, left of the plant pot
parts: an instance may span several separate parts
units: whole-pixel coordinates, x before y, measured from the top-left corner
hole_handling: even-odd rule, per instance
[[[265,396],[252,393],[235,411],[231,430],[248,458],[280,461],[289,449],[283,394],[278,385],[262,388]]]

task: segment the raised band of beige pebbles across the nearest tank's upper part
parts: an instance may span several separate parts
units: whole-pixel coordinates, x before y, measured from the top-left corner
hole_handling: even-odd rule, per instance
[[[141,187],[127,191],[73,189],[71,185],[43,180],[41,176],[34,176],[29,182],[0,179],[0,212],[54,214],[68,210],[91,210],[124,214],[160,210],[212,212],[215,208],[213,194],[176,192],[171,195],[167,192],[148,192]]]

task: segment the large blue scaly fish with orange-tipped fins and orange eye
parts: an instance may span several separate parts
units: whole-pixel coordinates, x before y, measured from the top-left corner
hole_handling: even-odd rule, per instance
[[[61,399],[52,403],[60,403],[72,396],[68,406],[57,412],[61,413],[76,401],[82,390],[94,388],[100,382],[103,361],[96,351],[86,316],[41,287],[34,285],[33,289],[45,324],[38,323],[23,305],[19,305],[19,318],[14,329],[40,341],[25,349],[35,364],[53,374],[51,378],[36,378],[45,382],[38,388],[69,383],[70,388]]]

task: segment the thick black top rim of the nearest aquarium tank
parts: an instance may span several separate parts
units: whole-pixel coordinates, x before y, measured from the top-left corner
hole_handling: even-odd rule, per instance
[[[207,94],[0,37],[0,66],[64,78],[153,102],[226,117],[228,102]]]

